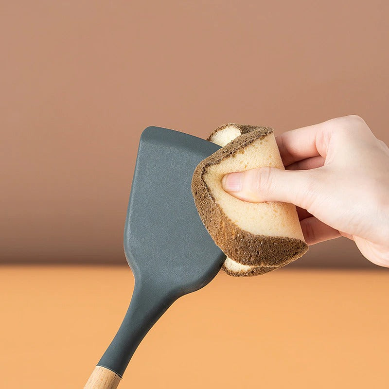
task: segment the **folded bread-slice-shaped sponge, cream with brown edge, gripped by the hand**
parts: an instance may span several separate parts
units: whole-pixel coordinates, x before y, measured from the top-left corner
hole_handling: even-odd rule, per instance
[[[294,205],[242,201],[221,186],[227,173],[283,169],[273,130],[224,124],[208,140],[223,147],[198,164],[192,193],[201,220],[228,257],[223,269],[236,276],[264,274],[301,257],[308,246]]]

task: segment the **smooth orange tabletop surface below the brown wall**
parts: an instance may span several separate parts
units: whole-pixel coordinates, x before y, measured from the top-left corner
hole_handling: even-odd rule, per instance
[[[82,388],[127,308],[125,266],[2,266],[3,388]],[[387,388],[389,273],[220,273],[176,301],[120,388]]]

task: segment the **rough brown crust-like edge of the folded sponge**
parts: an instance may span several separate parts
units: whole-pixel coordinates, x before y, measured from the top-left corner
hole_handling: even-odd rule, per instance
[[[230,124],[225,124],[224,127],[227,125]],[[216,203],[204,179],[208,168],[235,153],[241,152],[248,144],[257,139],[265,138],[266,135],[273,132],[269,127],[248,125],[241,127],[243,127],[241,131],[245,131],[243,135],[238,136],[197,165],[192,178],[192,194],[200,218],[216,245],[232,260],[242,265],[256,266],[256,268],[252,269],[252,272],[255,272],[255,274],[247,274],[245,272],[239,275],[256,275],[287,265],[300,258],[308,250],[308,245],[300,239],[253,235],[248,231],[242,230],[226,216]],[[221,127],[216,130],[219,131],[220,129]],[[212,139],[212,134],[209,139]],[[262,268],[262,266],[272,267]],[[231,275],[238,275],[225,268],[224,270]]]

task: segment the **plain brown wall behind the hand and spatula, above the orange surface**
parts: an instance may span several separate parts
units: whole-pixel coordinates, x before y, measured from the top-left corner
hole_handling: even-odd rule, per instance
[[[357,113],[389,142],[386,1],[0,6],[0,261],[124,263],[141,130],[279,134]],[[299,265],[368,265],[352,242]]]

